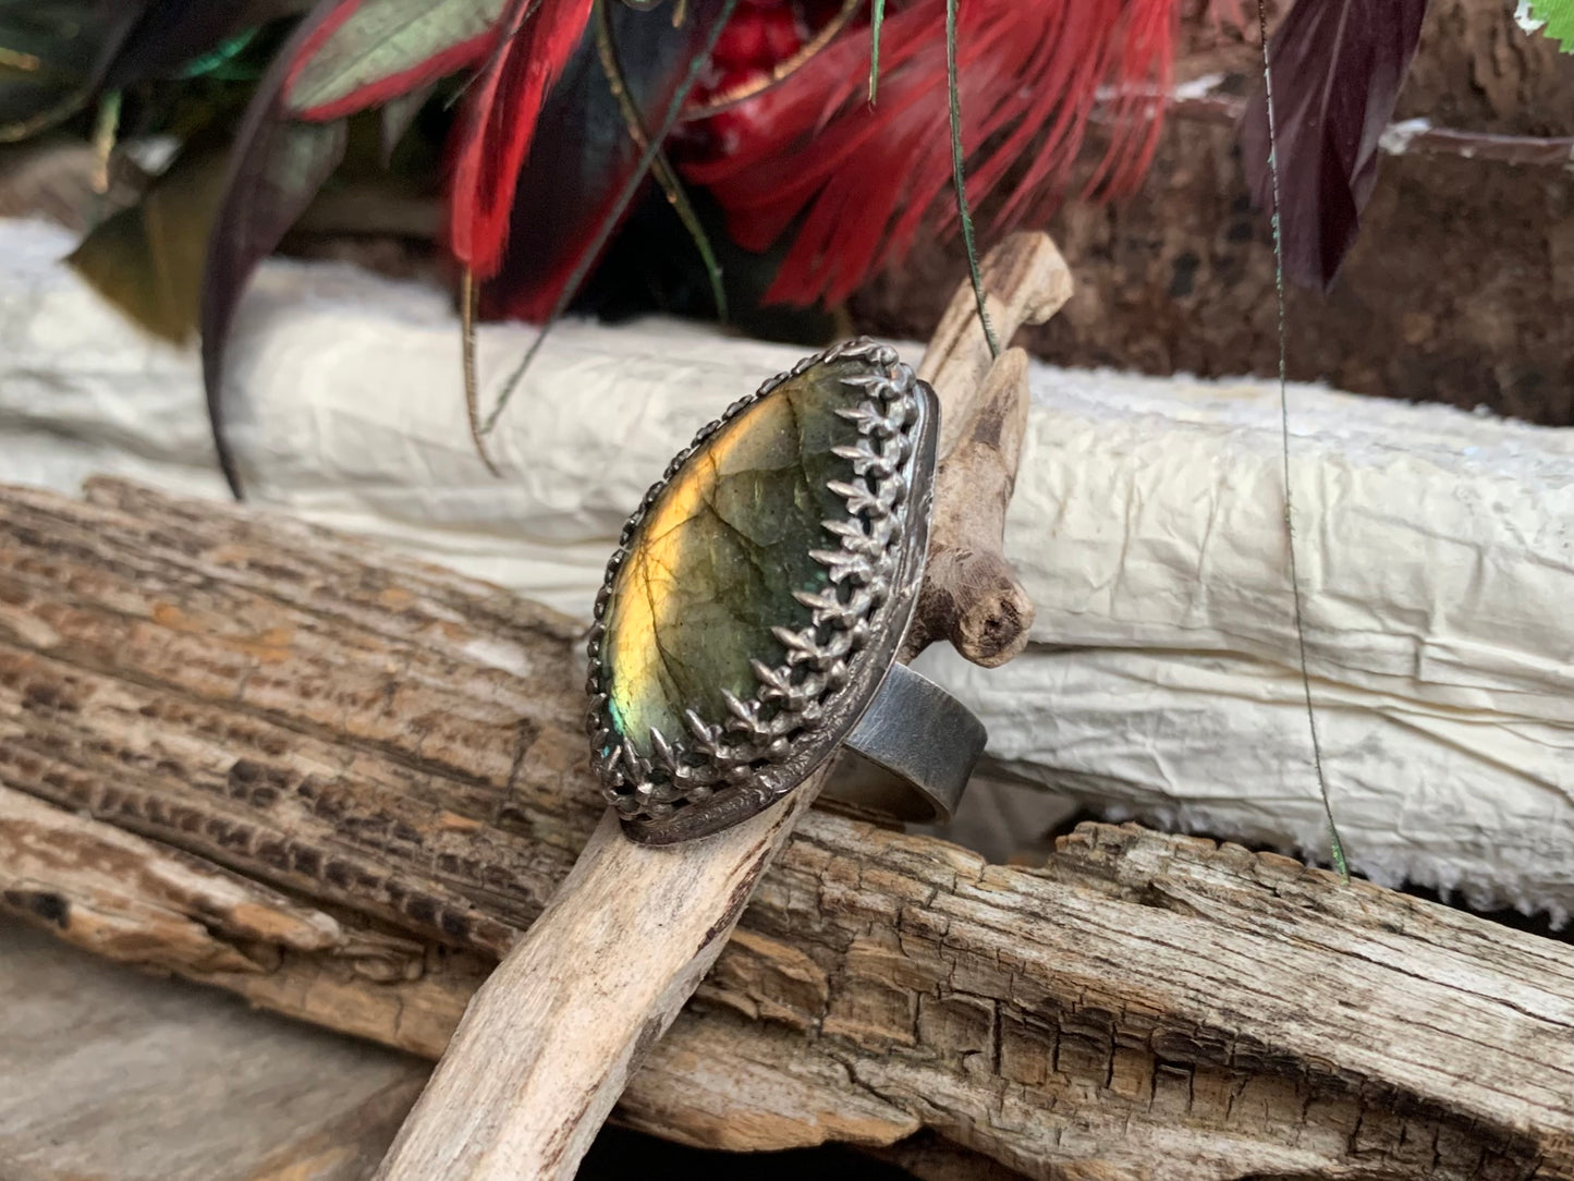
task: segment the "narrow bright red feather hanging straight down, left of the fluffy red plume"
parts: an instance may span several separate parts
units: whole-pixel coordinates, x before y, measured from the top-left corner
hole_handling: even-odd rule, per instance
[[[592,0],[513,0],[504,49],[475,83],[453,167],[449,235],[477,279],[502,266],[519,168],[546,91],[584,36]]]

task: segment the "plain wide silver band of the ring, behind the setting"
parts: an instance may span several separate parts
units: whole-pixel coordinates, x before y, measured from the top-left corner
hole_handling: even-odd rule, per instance
[[[823,795],[899,820],[946,822],[987,739],[966,705],[907,665],[892,665],[844,740]]]

